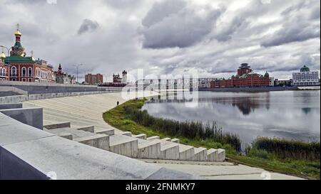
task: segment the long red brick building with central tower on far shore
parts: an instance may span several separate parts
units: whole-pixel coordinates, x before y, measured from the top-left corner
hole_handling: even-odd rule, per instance
[[[269,87],[270,75],[260,75],[253,72],[248,63],[243,63],[238,68],[238,75],[233,75],[228,80],[220,79],[210,82],[211,88],[218,87]]]

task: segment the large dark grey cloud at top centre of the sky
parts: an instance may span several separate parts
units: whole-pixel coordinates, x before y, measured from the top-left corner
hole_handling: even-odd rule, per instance
[[[143,18],[143,48],[185,48],[210,33],[220,9],[199,16],[185,1],[161,1]]]

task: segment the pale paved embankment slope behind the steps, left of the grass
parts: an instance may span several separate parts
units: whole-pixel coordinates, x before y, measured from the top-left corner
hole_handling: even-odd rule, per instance
[[[138,92],[138,97],[157,95],[156,92]],[[130,94],[135,98],[135,94]],[[76,97],[61,97],[40,99],[24,102],[24,107],[44,108],[44,125],[61,122],[71,122],[72,127],[95,126],[95,131],[114,129],[115,134],[121,131],[110,126],[103,120],[103,113],[116,107],[117,101],[121,104],[127,99],[121,97],[121,92],[99,95],[84,95]]]

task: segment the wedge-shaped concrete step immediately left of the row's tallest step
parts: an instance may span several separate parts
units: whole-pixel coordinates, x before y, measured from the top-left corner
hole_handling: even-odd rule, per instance
[[[94,136],[85,136],[78,139],[73,139],[81,144],[93,146],[98,149],[109,151],[109,136],[103,134],[96,134]]]

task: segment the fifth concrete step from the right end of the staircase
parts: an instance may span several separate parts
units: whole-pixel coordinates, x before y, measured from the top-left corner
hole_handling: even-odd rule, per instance
[[[161,156],[163,160],[179,160],[180,150],[178,144],[172,143],[170,141],[162,141],[160,139],[153,139],[151,142],[161,143]]]

